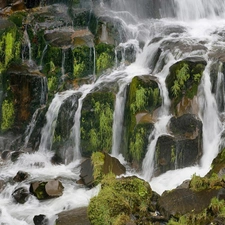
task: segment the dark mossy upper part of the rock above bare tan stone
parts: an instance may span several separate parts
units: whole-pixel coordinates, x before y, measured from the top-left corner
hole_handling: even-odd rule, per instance
[[[196,96],[205,66],[206,62],[201,58],[187,58],[170,67],[166,85],[175,113],[177,104],[184,96],[189,99]]]

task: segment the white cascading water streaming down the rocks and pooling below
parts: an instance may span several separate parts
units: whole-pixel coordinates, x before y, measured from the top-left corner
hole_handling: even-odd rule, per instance
[[[161,194],[164,190],[175,188],[184,180],[189,179],[194,173],[199,175],[206,174],[210,163],[218,154],[219,144],[221,144],[220,136],[224,125],[220,120],[220,116],[224,112],[218,111],[217,103],[224,102],[224,96],[219,96],[218,91],[216,95],[212,92],[210,66],[213,62],[209,60],[208,51],[213,50],[214,47],[222,48],[223,46],[220,32],[225,27],[225,2],[223,0],[169,0],[166,3],[159,1],[159,7],[161,8],[158,8],[159,15],[157,19],[154,18],[154,15],[148,14],[151,14],[154,10],[150,10],[147,13],[143,9],[143,7],[148,8],[148,2],[151,3],[149,7],[153,7],[153,1],[141,0],[140,2],[143,4],[143,7],[141,4],[131,6],[132,4],[129,0],[115,0],[111,2],[111,6],[108,6],[104,1],[100,1],[99,7],[102,10],[102,16],[107,15],[121,22],[126,32],[127,40],[124,43],[118,44],[118,48],[125,50],[129,46],[133,46],[136,52],[136,60],[129,66],[123,63],[124,60],[111,74],[103,74],[92,84],[84,85],[75,91],[69,90],[55,95],[46,113],[46,123],[42,130],[39,150],[33,154],[23,154],[16,163],[2,162],[0,164],[0,179],[10,179],[19,170],[28,172],[30,174],[30,181],[62,177],[62,183],[65,187],[64,193],[57,199],[43,202],[31,196],[26,203],[16,204],[11,193],[20,186],[27,187],[28,185],[23,182],[19,185],[10,184],[9,182],[7,187],[0,193],[0,224],[31,225],[33,224],[32,219],[34,215],[38,214],[45,214],[52,221],[52,224],[54,224],[57,213],[63,210],[87,206],[90,198],[98,193],[99,187],[87,190],[81,188],[75,181],[79,179],[79,162],[81,159],[79,148],[82,102],[88,93],[103,82],[116,80],[119,84],[112,127],[112,155],[119,157],[126,86],[137,75],[149,74],[149,76],[154,76],[158,79],[163,104],[158,112],[154,129],[149,136],[149,144],[143,161],[142,171],[137,174],[150,182],[154,191]],[[168,5],[169,7],[167,7]],[[143,19],[141,16],[138,18],[138,15],[143,15],[145,18]],[[101,38],[106,39],[107,34],[104,24],[102,26],[103,34]],[[24,35],[26,38],[26,33]],[[139,42],[144,43],[143,49],[139,46]],[[167,47],[166,43],[168,45],[170,43],[177,44],[174,47]],[[180,43],[183,43],[183,45],[179,46]],[[26,44],[29,47],[27,39]],[[194,46],[195,48],[189,49],[187,46]],[[164,51],[157,62],[154,62],[159,47],[164,49]],[[30,51],[29,48],[29,60]],[[156,142],[158,137],[168,134],[167,123],[172,116],[169,111],[170,99],[165,79],[169,73],[170,66],[186,57],[202,57],[207,62],[198,89],[199,117],[203,123],[203,157],[200,165],[167,171],[158,177],[152,177]],[[64,59],[62,60],[63,74]],[[93,73],[95,75],[95,69]],[[221,71],[219,73],[220,81],[222,81],[224,79],[223,74]],[[219,84],[217,86],[219,88]],[[43,86],[43,88],[45,87]],[[73,161],[68,165],[52,165],[50,159],[53,153],[49,150],[52,148],[60,106],[72,94],[78,92],[81,93],[81,97],[78,101],[78,108],[74,115],[74,125],[71,130],[71,138],[74,140]],[[41,103],[43,102],[44,100],[41,99]],[[37,113],[34,114],[27,128],[28,139],[35,125]]]

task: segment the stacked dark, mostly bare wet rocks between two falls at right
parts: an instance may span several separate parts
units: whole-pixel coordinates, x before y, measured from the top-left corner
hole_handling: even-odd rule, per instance
[[[168,129],[171,135],[160,136],[156,143],[155,176],[195,165],[202,155],[202,122],[195,115],[172,117]]]

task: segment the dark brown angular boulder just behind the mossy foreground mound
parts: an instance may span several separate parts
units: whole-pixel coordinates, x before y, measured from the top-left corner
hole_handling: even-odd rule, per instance
[[[96,154],[96,153],[93,153],[93,154]],[[80,178],[86,186],[95,185],[95,182],[99,179],[99,177],[101,177],[102,175],[106,175],[110,172],[118,176],[126,172],[126,168],[119,162],[117,158],[112,157],[107,153],[97,152],[97,154],[100,154],[100,156],[103,159],[103,162],[101,162],[101,165],[99,161],[97,162],[98,165],[96,164],[96,166],[99,166],[98,175],[94,176],[94,171],[96,166],[95,166],[95,162],[93,162],[91,159],[86,159],[84,162],[81,163]],[[97,183],[98,182],[99,180],[97,181]]]

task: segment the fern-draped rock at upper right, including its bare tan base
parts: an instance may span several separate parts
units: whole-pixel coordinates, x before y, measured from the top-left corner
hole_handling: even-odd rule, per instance
[[[198,85],[206,62],[204,59],[186,58],[170,67],[170,74],[166,78],[169,97],[172,99],[172,113],[181,116],[186,113],[196,113],[195,103]]]

